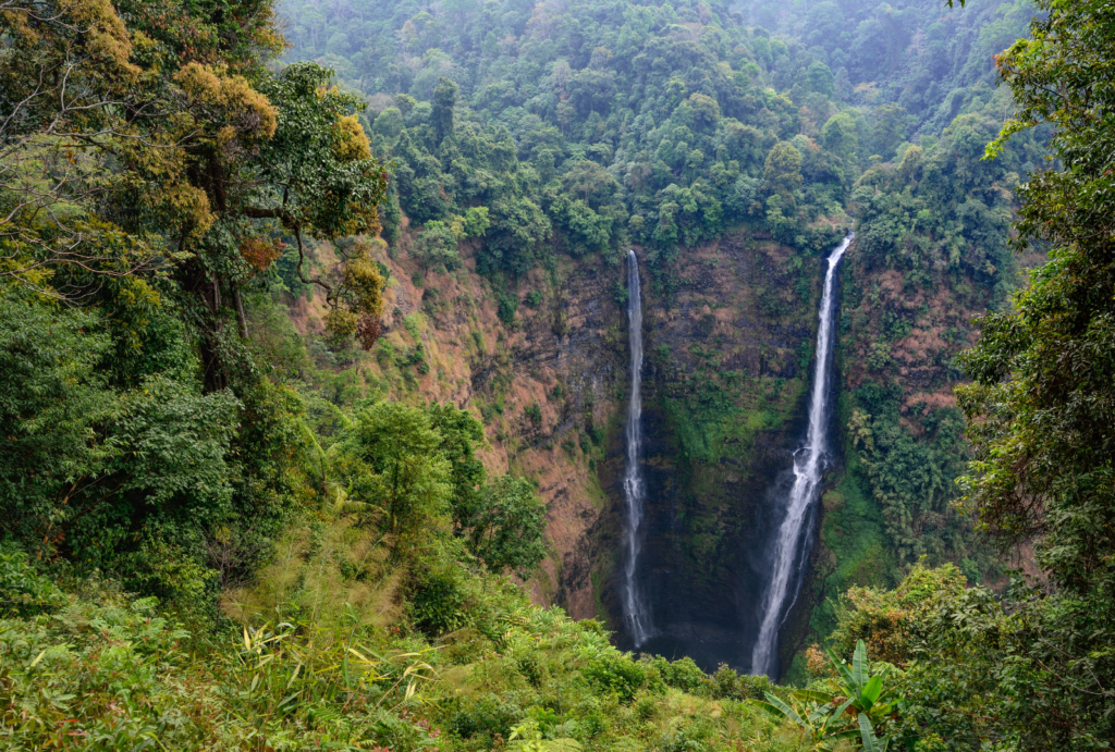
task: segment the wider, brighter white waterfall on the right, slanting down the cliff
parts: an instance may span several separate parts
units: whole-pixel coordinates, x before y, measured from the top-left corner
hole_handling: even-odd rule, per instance
[[[833,335],[835,333],[835,316],[833,304],[833,287],[836,280],[836,266],[847,251],[854,237],[847,237],[836,246],[828,256],[828,271],[825,273],[825,289],[821,295],[821,323],[817,326],[816,369],[813,373],[813,394],[809,402],[809,428],[805,437],[805,446],[794,453],[794,485],[786,501],[786,517],[778,528],[774,539],[769,560],[773,564],[770,579],[763,597],[763,623],[759,626],[758,641],[752,653],[752,673],[769,674],[774,667],[773,657],[778,642],[778,628],[785,617],[786,600],[791,587],[797,580],[799,568],[799,549],[802,548],[803,527],[808,520],[808,512],[817,501],[821,490],[821,473],[828,453],[825,440],[825,428],[828,421],[828,369],[832,358]],[[796,592],[794,594],[796,597]]]

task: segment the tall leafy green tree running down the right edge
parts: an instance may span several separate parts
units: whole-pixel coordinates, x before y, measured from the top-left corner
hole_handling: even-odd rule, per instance
[[[1115,736],[1115,8],[1036,4],[1032,38],[998,58],[1018,115],[988,154],[1053,125],[1056,160],[1019,187],[1017,225],[1049,256],[962,359],[963,505],[1046,573],[988,633],[1004,651],[989,723],[1020,749],[1084,749]]]

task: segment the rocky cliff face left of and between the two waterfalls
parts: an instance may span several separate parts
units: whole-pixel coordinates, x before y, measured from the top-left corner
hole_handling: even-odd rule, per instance
[[[560,257],[520,285],[506,325],[497,292],[464,255],[460,270],[421,275],[380,250],[385,334],[363,357],[365,379],[396,399],[474,408],[489,469],[537,479],[550,510],[553,555],[529,584],[533,597],[619,631],[623,270]],[[670,280],[644,271],[639,576],[661,631],[651,650],[747,667],[770,491],[804,430],[822,263],[741,232],[687,251]],[[295,313],[316,325],[314,311]]]

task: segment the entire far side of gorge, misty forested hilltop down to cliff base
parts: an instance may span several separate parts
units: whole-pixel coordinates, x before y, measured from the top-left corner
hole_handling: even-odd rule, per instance
[[[950,507],[951,363],[1017,284],[1010,186],[1039,149],[980,157],[1010,106],[991,55],[1027,17],[930,4],[287,3],[290,59],[363,92],[396,165],[385,341],[349,370],[475,411],[485,461],[537,482],[536,602],[709,671],[755,670],[763,642],[801,676],[847,587],[922,556],[998,576]],[[782,549],[802,576],[779,575],[825,257],[852,213],[831,477],[806,495],[815,545]],[[321,312],[278,267],[314,336]]]

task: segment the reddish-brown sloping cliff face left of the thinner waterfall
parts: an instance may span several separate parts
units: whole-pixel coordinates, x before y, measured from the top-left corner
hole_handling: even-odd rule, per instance
[[[508,325],[471,250],[463,255],[462,268],[424,274],[405,252],[380,245],[389,272],[384,334],[371,353],[352,357],[371,392],[450,401],[483,418],[489,471],[536,480],[549,508],[553,553],[527,583],[532,597],[576,618],[601,616],[592,576],[601,555],[590,531],[613,502],[597,469],[622,419],[628,378],[626,316],[613,300],[622,270],[558,258],[520,284]],[[300,300],[292,319],[304,333],[320,329],[322,313]]]

